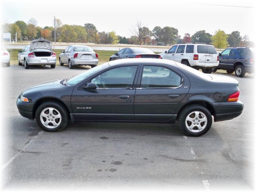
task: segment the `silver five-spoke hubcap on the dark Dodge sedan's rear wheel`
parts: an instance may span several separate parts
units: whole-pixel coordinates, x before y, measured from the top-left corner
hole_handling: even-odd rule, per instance
[[[191,132],[200,132],[206,128],[207,118],[201,111],[194,111],[186,117],[186,128]]]

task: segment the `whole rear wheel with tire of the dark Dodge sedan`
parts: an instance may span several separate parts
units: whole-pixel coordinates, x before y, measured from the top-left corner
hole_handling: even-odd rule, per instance
[[[211,128],[212,115],[204,106],[188,106],[180,113],[179,124],[187,135],[201,136]]]

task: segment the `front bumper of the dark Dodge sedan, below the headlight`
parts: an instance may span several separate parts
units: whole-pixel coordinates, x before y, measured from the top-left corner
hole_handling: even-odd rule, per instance
[[[16,106],[21,116],[29,119],[34,119],[34,116],[33,116],[34,103],[23,102],[22,100],[20,100],[20,97],[19,97],[17,99]]]

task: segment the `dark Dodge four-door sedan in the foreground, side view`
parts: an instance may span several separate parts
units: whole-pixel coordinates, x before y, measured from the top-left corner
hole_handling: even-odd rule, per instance
[[[157,69],[157,70],[155,70]],[[43,94],[42,94],[43,93]],[[214,121],[242,113],[238,81],[204,74],[174,61],[128,59],[39,84],[17,99],[20,114],[46,131],[60,131],[68,119],[180,123],[188,135],[205,134]]]

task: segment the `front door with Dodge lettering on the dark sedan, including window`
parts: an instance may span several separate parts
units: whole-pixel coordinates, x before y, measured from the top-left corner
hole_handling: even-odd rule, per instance
[[[134,80],[139,64],[113,66],[74,87],[71,97],[76,120],[134,120]],[[82,87],[95,82],[95,90]]]

